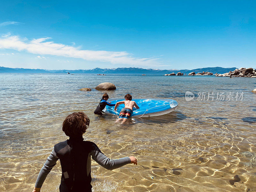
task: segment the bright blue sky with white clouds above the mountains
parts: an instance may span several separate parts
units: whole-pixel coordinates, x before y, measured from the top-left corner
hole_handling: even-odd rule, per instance
[[[5,1],[0,66],[256,67],[255,1]]]

